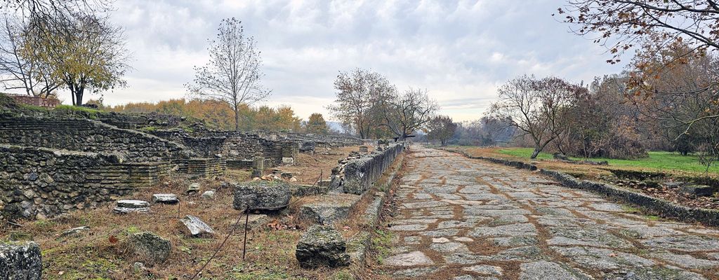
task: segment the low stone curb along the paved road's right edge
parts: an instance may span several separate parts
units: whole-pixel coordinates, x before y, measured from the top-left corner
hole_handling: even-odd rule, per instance
[[[500,163],[504,165],[513,166],[516,168],[523,168],[528,170],[538,170],[536,165],[528,163],[522,163],[515,160],[502,160],[498,158],[487,158],[487,157],[475,157],[468,155],[462,150],[452,149],[441,149],[448,152],[459,153],[467,158],[487,160],[493,163]],[[559,181],[567,188],[577,188],[582,190],[590,190],[592,192],[601,193],[607,197],[615,198],[618,201],[624,203],[631,203],[636,206],[644,208],[649,213],[654,213],[664,218],[674,218],[678,221],[687,222],[698,222],[706,226],[719,226],[719,211],[704,209],[704,208],[690,208],[686,206],[680,206],[669,201],[665,201],[661,198],[654,198],[649,195],[642,193],[635,193],[631,190],[623,190],[615,188],[612,185],[597,183],[590,180],[578,180],[574,176],[559,171],[539,169],[539,173],[547,175],[554,180]]]

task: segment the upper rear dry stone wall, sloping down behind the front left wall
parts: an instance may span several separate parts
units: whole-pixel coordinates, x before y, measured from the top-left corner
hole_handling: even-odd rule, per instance
[[[0,115],[0,143],[80,152],[114,152],[129,162],[190,158],[183,145],[87,119]]]

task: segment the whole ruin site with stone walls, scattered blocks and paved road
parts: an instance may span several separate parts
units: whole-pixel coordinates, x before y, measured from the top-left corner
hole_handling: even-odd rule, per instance
[[[719,276],[717,211],[536,162],[0,109],[0,279]]]

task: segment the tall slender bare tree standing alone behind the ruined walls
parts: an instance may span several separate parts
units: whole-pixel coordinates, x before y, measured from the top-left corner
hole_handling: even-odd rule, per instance
[[[195,67],[195,79],[186,84],[191,97],[224,102],[234,110],[234,127],[239,130],[239,110],[270,96],[260,85],[262,58],[255,39],[244,34],[242,21],[223,19],[217,38],[210,40],[210,61]]]

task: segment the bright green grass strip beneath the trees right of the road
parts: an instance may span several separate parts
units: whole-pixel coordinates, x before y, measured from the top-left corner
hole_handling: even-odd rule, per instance
[[[533,148],[504,148],[498,150],[504,155],[512,155],[518,158],[529,158],[532,155]],[[539,153],[537,159],[551,160],[551,153]],[[574,160],[583,160],[583,158],[572,158]],[[616,160],[612,158],[592,158],[591,160],[602,161],[607,160],[610,166],[628,166],[636,168],[651,168],[656,170],[674,170],[674,171],[690,171],[704,173],[705,167],[699,163],[695,155],[679,155],[671,152],[649,152],[649,157],[638,158],[634,160]],[[715,163],[709,173],[719,174],[719,163]]]

